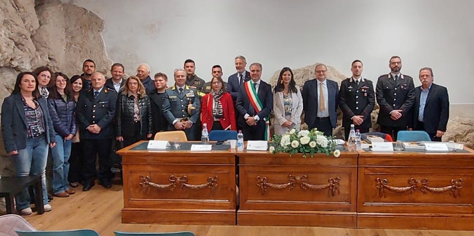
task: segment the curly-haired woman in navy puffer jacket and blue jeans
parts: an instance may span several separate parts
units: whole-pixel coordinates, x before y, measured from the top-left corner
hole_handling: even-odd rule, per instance
[[[56,132],[57,144],[51,149],[53,156],[53,195],[59,198],[74,194],[68,182],[69,156],[72,137],[76,134],[75,101],[69,78],[63,73],[53,74],[48,108]]]

